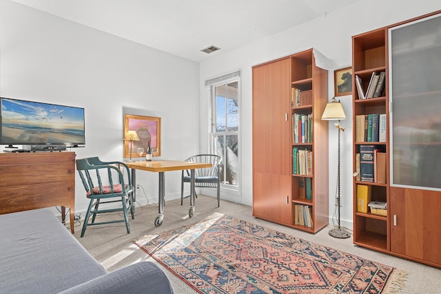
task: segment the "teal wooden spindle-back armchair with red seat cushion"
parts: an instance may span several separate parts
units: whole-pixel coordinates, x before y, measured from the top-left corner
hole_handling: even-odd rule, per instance
[[[88,226],[115,222],[125,222],[127,233],[130,233],[128,211],[134,219],[134,205],[129,167],[123,162],[103,162],[98,157],[90,157],[76,160],[76,169],[79,172],[81,182],[83,182],[86,197],[90,199],[81,230],[81,238]],[[121,207],[115,207],[117,206],[115,204],[112,207],[107,205],[117,202],[121,203]],[[114,211],[123,211],[123,220],[95,222],[97,214]],[[91,215],[92,220],[89,223]]]

